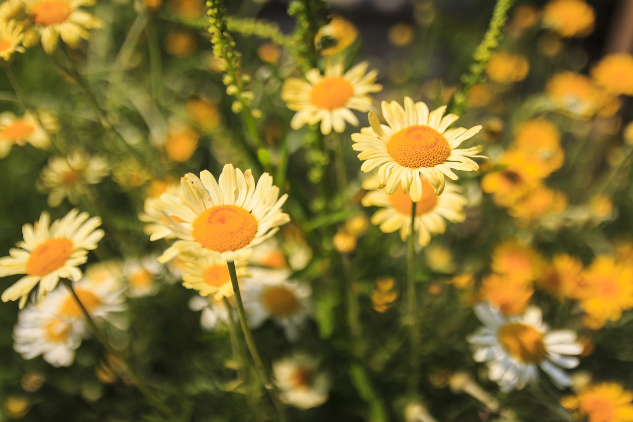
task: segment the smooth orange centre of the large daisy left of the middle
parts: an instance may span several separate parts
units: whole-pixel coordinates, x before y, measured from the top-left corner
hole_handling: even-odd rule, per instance
[[[215,252],[244,248],[256,234],[257,220],[253,214],[235,205],[209,208],[193,224],[197,243]]]

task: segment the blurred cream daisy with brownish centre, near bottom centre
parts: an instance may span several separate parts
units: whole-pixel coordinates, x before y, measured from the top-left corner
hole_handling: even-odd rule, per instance
[[[279,399],[299,409],[325,403],[330,381],[325,373],[318,372],[318,364],[316,359],[303,354],[273,362],[273,382],[279,388]]]

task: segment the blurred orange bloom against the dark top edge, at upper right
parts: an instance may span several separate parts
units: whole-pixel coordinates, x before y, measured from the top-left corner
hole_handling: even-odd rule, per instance
[[[552,0],[543,8],[543,25],[561,37],[584,37],[591,34],[596,15],[582,0]]]

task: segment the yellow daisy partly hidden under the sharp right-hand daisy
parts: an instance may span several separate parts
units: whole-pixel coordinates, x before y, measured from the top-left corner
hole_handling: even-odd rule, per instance
[[[420,177],[420,176],[417,176]],[[446,220],[462,222],[466,219],[463,212],[466,198],[461,195],[461,188],[453,183],[446,184],[444,193],[437,196],[435,189],[429,181],[422,177],[422,199],[415,207],[415,229],[418,243],[426,246],[431,240],[432,234],[440,234],[446,231]],[[411,230],[411,208],[413,201],[401,189],[396,189],[391,195],[387,195],[380,188],[377,175],[373,175],[363,181],[363,189],[368,193],[363,196],[361,203],[365,207],[382,207],[372,216],[372,224],[380,227],[384,233],[400,231],[400,238],[405,241]]]

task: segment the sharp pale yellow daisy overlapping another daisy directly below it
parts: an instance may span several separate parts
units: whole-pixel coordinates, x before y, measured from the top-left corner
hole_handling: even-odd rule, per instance
[[[391,195],[402,186],[411,200],[422,200],[422,178],[435,188],[436,195],[444,191],[444,176],[456,180],[453,170],[472,171],[479,165],[468,157],[481,157],[481,146],[457,149],[466,139],[481,130],[458,127],[447,129],[458,116],[444,116],[446,106],[429,113],[425,103],[413,103],[404,98],[404,108],[396,101],[382,102],[382,115],[387,125],[381,125],[378,116],[369,112],[370,127],[352,135],[352,148],[359,151],[358,159],[364,161],[363,172],[378,168],[378,180]],[[443,117],[442,117],[443,116]]]

